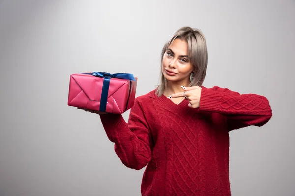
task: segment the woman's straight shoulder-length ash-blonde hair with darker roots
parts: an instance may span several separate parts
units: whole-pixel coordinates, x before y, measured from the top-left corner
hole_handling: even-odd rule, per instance
[[[163,56],[170,44],[175,39],[184,40],[188,44],[188,56],[190,57],[191,63],[194,67],[189,86],[201,86],[206,76],[208,65],[208,51],[205,36],[199,29],[182,27],[173,34],[173,36],[168,42],[166,42],[162,49],[160,83],[156,89],[156,94],[159,97],[162,96],[165,88],[167,87],[167,80],[162,73]]]

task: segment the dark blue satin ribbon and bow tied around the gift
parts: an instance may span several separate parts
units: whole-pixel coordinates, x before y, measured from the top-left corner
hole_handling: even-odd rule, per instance
[[[129,90],[129,96],[131,91],[131,81],[136,81],[134,76],[130,73],[107,73],[107,72],[92,72],[92,73],[83,73],[88,75],[93,75],[95,77],[101,77],[103,78],[103,85],[102,85],[102,92],[101,92],[101,98],[100,98],[100,106],[99,111],[105,112],[107,107],[107,99],[108,99],[108,93],[109,93],[109,87],[110,87],[110,80],[111,78],[118,78],[118,79],[128,79],[130,80],[130,90]],[[126,103],[126,108],[129,101],[129,96]]]

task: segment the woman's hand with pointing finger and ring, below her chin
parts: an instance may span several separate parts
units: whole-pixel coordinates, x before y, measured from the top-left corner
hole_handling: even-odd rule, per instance
[[[168,98],[185,97],[185,99],[189,101],[189,104],[188,104],[189,107],[191,108],[200,107],[200,98],[201,98],[202,88],[199,86],[191,86],[191,87],[181,86],[181,88],[184,90],[184,92],[172,94],[168,96]]]

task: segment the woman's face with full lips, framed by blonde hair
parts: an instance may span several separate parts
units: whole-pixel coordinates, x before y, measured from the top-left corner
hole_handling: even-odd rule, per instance
[[[166,50],[162,59],[162,72],[168,81],[190,82],[193,65],[188,57],[186,41],[175,39]]]

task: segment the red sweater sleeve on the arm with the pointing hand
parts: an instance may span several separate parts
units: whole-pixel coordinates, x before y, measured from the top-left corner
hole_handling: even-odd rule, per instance
[[[227,88],[202,88],[201,111],[221,113],[226,117],[229,131],[247,126],[263,126],[272,117],[266,97],[239,94]]]

